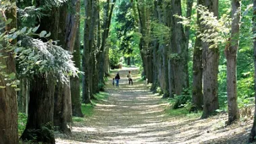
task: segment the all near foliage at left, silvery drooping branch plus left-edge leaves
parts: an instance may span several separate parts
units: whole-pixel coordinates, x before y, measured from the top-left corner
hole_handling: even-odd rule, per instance
[[[4,3],[5,4],[5,3]],[[11,3],[1,5],[0,9],[5,11],[8,7],[13,7]],[[0,23],[1,30],[5,28],[5,25],[11,23],[11,19],[6,20],[2,17]],[[68,81],[67,76],[78,76],[79,70],[74,66],[72,55],[68,51],[63,50],[60,46],[53,45],[53,40],[49,42],[42,42],[42,40],[34,39],[29,36],[38,36],[40,38],[47,38],[51,36],[51,33],[42,31],[40,34],[35,34],[39,26],[35,28],[24,27],[21,30],[13,28],[10,32],[0,32],[1,49],[5,52],[13,52],[16,60],[18,61],[18,69],[20,69],[20,75],[30,76],[31,74],[53,72],[56,77],[60,77],[61,81]],[[12,44],[13,40],[19,38],[17,44]],[[4,43],[4,45],[3,45]],[[7,57],[0,55],[0,57]],[[5,65],[0,63],[0,74],[6,77],[6,80],[11,81],[7,83],[7,86],[17,87],[20,81],[15,80],[15,73],[5,73],[1,71],[5,69]],[[1,85],[1,87],[5,87]],[[19,89],[16,89],[19,90]]]

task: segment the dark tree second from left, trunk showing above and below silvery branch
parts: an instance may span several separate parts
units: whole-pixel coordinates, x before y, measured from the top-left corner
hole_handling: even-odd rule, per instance
[[[36,7],[43,7],[44,5],[45,1],[36,1]],[[42,30],[51,32],[50,38],[57,40],[59,30],[59,8],[52,7],[47,14],[48,15],[40,17],[40,20],[38,20],[38,23],[40,24],[38,32],[41,32]],[[49,15],[51,15],[51,17]],[[34,137],[36,136],[37,141],[55,143],[55,139],[51,133],[42,135],[40,132],[46,125],[47,127],[53,127],[55,80],[51,73],[35,74],[32,76],[30,85],[28,120],[21,139],[24,141],[34,140]],[[38,131],[38,133],[35,133],[35,131]]]

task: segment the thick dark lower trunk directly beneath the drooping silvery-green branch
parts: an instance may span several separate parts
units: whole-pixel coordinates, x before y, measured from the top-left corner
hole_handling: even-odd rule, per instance
[[[52,132],[55,87],[49,85],[55,81],[50,75],[52,74],[34,75],[34,79],[30,82],[33,86],[30,89],[28,121],[20,138],[23,141],[55,143]]]

